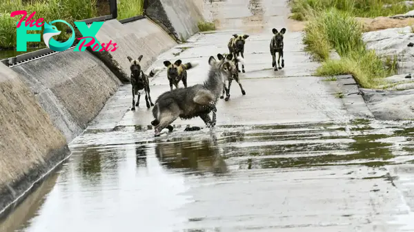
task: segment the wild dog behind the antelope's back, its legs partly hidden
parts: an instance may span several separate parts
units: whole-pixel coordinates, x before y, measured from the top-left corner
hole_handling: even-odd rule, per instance
[[[178,89],[179,81],[182,81],[184,87],[187,87],[187,70],[198,65],[197,62],[188,62],[183,64],[181,60],[171,63],[170,61],[164,61],[164,65],[167,67],[167,78],[170,81],[170,89],[172,90],[172,85]]]

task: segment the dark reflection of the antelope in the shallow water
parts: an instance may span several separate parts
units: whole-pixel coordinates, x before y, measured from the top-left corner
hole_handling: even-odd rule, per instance
[[[226,162],[219,151],[217,136],[213,132],[210,134],[210,139],[205,140],[157,143],[155,154],[168,169],[214,173],[227,171]]]

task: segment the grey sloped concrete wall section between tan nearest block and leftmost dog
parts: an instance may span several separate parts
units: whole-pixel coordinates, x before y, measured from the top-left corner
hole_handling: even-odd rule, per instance
[[[86,129],[120,81],[89,52],[73,49],[12,67],[68,143]]]

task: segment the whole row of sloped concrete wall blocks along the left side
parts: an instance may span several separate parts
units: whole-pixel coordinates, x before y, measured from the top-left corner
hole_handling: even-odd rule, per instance
[[[169,10],[172,4],[188,12]],[[159,54],[177,45],[177,37],[188,39],[197,33],[197,22],[203,19],[193,1],[145,1],[144,8],[148,17],[102,18],[105,23],[96,35],[100,42],[117,43],[110,58],[127,75],[126,56],[144,55],[141,64],[146,70]],[[183,17],[188,14],[195,17]],[[74,52],[74,48],[63,52],[43,49],[0,63],[1,218],[68,158],[68,143],[126,82],[99,56]]]

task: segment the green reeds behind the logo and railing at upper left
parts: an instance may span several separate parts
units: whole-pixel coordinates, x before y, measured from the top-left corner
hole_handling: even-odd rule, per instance
[[[0,3],[0,50],[16,48],[16,24],[21,16],[10,17],[10,13],[15,10],[26,10],[27,17],[32,12],[36,12],[33,19],[44,18],[45,21],[62,19],[71,25],[73,22],[82,19],[90,19],[98,16],[98,0],[2,0]],[[99,0],[100,1],[100,0]],[[118,19],[126,19],[141,15],[144,10],[144,0],[117,0]],[[107,1],[106,1],[107,2]],[[104,6],[105,3],[101,4]],[[109,3],[107,3],[109,4]],[[108,8],[108,7],[107,7]],[[106,12],[109,14],[109,12]],[[66,33],[68,28],[63,23],[56,24],[61,34],[54,38],[58,41],[66,41],[70,34]],[[43,33],[43,28],[41,30]],[[28,33],[39,34],[39,31],[29,31]],[[42,36],[41,36],[42,37]],[[41,38],[43,42],[43,38]],[[44,43],[28,43],[28,47],[44,48]]]

